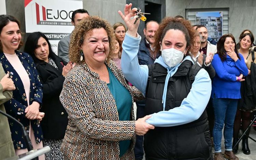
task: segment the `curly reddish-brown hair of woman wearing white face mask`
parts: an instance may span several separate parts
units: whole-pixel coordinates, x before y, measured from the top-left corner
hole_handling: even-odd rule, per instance
[[[157,56],[157,54],[161,55],[160,45],[159,42],[162,42],[163,37],[165,37],[165,34],[168,30],[174,29],[174,30],[180,30],[185,34],[185,39],[187,41],[186,48],[188,47],[187,53],[189,53],[189,49],[193,45],[193,42],[195,41],[195,34],[196,31],[191,26],[190,21],[185,19],[178,19],[173,17],[166,17],[162,20],[161,24],[159,25],[159,28],[155,34],[155,53],[154,55]]]

